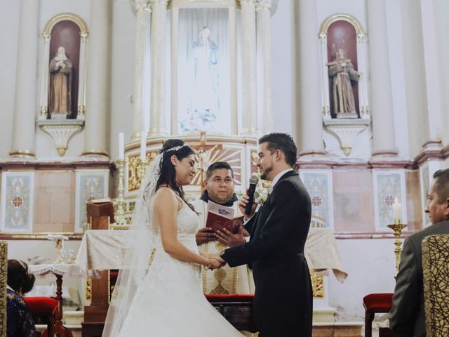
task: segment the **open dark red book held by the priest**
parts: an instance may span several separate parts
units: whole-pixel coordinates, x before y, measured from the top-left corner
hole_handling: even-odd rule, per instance
[[[239,231],[239,225],[243,224],[243,216],[234,218],[234,212],[233,207],[222,206],[209,200],[206,227],[212,228],[214,232],[226,228],[235,234]]]

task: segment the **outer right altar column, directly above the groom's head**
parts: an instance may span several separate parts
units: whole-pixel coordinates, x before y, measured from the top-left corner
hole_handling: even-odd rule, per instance
[[[273,128],[272,105],[272,37],[271,37],[271,0],[257,1],[257,53],[260,67],[260,107],[262,108],[262,134]]]

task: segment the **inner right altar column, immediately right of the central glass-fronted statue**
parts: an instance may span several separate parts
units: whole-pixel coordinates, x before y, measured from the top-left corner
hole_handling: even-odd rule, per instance
[[[242,130],[243,135],[257,134],[257,62],[255,0],[240,0],[242,57]]]

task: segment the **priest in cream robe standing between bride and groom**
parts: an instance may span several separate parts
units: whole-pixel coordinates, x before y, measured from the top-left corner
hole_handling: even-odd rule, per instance
[[[227,246],[234,246],[243,242],[243,227],[237,234],[226,236],[226,242],[222,244],[217,241],[216,234],[206,225],[207,203],[209,200],[223,205],[237,207],[237,197],[234,194],[234,172],[231,166],[224,161],[217,161],[211,164],[206,171],[206,189],[201,198],[194,202],[194,208],[201,218],[201,228],[196,233],[196,244],[199,249],[206,253],[217,253]],[[202,270],[203,292],[224,294],[224,293],[254,293],[253,275],[246,265],[240,267],[221,267],[218,270]]]

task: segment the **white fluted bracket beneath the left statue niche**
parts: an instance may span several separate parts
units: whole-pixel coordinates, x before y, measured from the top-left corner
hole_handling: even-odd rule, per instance
[[[62,121],[53,119],[38,120],[37,125],[48,133],[54,140],[56,150],[60,157],[64,157],[69,139],[84,126],[84,121],[78,119],[65,119]]]

